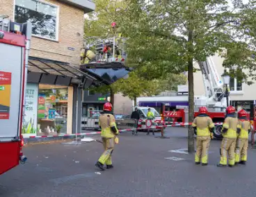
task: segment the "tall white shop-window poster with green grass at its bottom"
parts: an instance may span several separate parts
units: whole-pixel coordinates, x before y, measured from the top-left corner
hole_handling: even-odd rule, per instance
[[[23,134],[35,134],[38,127],[38,84],[27,83],[25,94],[25,117]]]

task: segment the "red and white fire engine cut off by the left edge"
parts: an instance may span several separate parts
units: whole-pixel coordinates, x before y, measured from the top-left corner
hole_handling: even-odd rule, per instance
[[[18,24],[0,15],[0,174],[27,160],[22,120],[31,31],[31,23]]]

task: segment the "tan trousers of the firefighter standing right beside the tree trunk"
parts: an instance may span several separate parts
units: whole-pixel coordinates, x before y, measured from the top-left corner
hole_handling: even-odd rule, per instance
[[[210,142],[210,136],[198,136],[196,138],[195,162],[202,160],[202,164],[207,164]]]

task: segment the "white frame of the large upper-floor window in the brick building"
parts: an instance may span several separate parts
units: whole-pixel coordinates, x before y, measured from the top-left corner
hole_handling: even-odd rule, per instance
[[[55,7],[57,8],[57,12],[56,12],[56,39],[51,39],[49,37],[43,37],[43,36],[40,36],[40,35],[34,35],[32,34],[33,37],[38,37],[40,39],[44,39],[44,40],[51,40],[51,41],[54,41],[54,42],[58,42],[59,41],[59,19],[60,19],[60,6],[57,6],[56,4],[54,3],[49,3],[47,1],[42,1],[42,0],[33,0],[33,1],[38,1],[40,3],[45,3],[49,6],[52,6],[52,7]],[[15,6],[16,6],[16,0],[13,0],[13,19],[15,21]]]

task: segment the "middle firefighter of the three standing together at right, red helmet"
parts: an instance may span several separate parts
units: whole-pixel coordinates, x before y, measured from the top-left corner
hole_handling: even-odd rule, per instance
[[[237,141],[237,129],[241,128],[234,113],[235,111],[233,106],[228,106],[226,109],[226,118],[221,130],[223,135],[221,142],[221,160],[217,166],[227,166],[227,152],[228,166],[234,166],[234,148]]]

